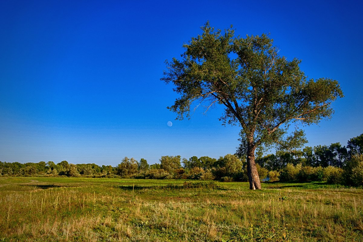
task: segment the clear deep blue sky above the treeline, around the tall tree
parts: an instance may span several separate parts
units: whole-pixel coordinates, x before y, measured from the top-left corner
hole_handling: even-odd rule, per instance
[[[340,82],[335,114],[306,127],[307,145],[363,133],[363,17],[359,1],[1,1],[0,160],[117,165],[162,155],[234,153],[238,127],[222,107],[176,121],[164,60],[207,20],[271,33],[310,78]],[[167,122],[172,121],[171,127]]]

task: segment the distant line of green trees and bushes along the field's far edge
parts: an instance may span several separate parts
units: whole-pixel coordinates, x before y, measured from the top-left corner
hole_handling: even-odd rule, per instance
[[[298,151],[277,151],[263,156],[257,152],[256,165],[260,180],[326,181],[331,184],[363,185],[363,134],[340,143],[305,147]],[[70,164],[61,161],[7,163],[0,161],[1,176],[119,177],[135,179],[192,179],[248,181],[245,157],[225,155],[219,159],[192,156],[162,156],[160,163],[149,165],[125,157],[117,167],[97,164]],[[183,163],[183,166],[181,165]]]

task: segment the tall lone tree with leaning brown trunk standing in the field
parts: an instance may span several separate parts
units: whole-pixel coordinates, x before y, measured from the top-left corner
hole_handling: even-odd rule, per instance
[[[240,152],[247,158],[250,189],[261,189],[256,148],[300,147],[306,142],[304,132],[289,134],[289,125],[330,118],[330,103],[343,97],[342,90],[329,78],[307,79],[301,61],[280,56],[266,34],[235,37],[232,26],[222,32],[209,22],[201,29],[201,35],[183,45],[180,59],[166,62],[161,80],[174,83],[173,90],[181,95],[168,108],[183,119],[198,106],[208,111],[216,103],[224,105],[220,120],[241,126]]]

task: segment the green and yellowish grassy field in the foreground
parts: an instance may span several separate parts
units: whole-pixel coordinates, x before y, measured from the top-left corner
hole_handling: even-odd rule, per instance
[[[0,241],[363,241],[363,189],[0,177]]]

